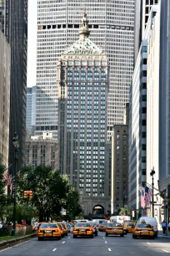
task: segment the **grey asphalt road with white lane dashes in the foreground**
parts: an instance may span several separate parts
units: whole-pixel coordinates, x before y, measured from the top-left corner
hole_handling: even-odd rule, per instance
[[[0,251],[0,256],[163,256],[170,253],[170,240],[167,238],[133,239],[132,235],[105,237],[99,233],[94,238],[72,238],[68,235],[60,241],[37,241],[37,238]]]

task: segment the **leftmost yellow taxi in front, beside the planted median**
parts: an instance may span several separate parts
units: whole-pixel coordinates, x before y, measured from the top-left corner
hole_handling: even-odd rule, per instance
[[[62,234],[57,223],[42,223],[37,229],[38,240],[43,240],[43,238],[57,238],[60,240]]]

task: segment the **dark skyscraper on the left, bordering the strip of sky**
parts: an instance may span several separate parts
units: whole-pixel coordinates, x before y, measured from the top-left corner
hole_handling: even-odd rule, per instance
[[[0,1],[0,23],[11,47],[9,164],[14,162],[13,136],[17,132],[19,170],[26,136],[28,0]]]

